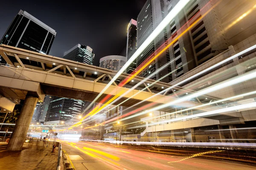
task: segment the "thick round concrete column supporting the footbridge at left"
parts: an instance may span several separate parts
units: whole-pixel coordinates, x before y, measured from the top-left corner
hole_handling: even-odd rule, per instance
[[[37,97],[31,96],[29,94],[26,95],[26,99],[20,111],[20,117],[17,120],[17,123],[12,132],[11,139],[6,148],[7,150],[22,150],[22,146],[25,142],[26,134],[29,130],[29,124],[35,111],[37,102]]]

